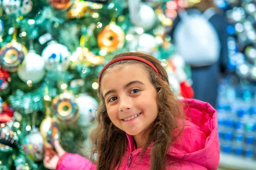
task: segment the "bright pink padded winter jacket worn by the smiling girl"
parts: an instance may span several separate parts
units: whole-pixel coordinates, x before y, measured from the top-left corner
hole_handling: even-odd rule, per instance
[[[189,120],[183,133],[169,147],[167,154],[176,161],[166,165],[166,170],[217,170],[220,159],[217,113],[206,102],[195,99],[183,99],[183,102],[187,104]],[[127,139],[119,170],[150,170],[150,156],[145,154],[141,159],[138,153],[142,148],[135,148],[133,136],[127,134]],[[96,165],[79,154],[67,153],[58,162],[57,170],[96,170]]]

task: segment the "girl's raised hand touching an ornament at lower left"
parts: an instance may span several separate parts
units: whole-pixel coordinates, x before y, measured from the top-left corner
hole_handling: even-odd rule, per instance
[[[50,170],[56,170],[57,163],[59,160],[59,157],[64,155],[66,152],[60,145],[60,142],[58,140],[54,141],[54,147],[55,150],[49,149],[49,148],[44,148],[45,154],[44,154],[44,167]]]

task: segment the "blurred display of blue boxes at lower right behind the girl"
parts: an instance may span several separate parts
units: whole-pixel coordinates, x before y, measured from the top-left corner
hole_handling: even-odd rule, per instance
[[[256,86],[224,79],[218,88],[220,150],[256,161]]]

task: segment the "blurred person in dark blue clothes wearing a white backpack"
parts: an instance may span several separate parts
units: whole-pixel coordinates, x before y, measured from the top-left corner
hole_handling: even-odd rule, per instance
[[[170,36],[192,70],[195,99],[216,108],[217,88],[228,62],[227,22],[213,0],[180,8]]]

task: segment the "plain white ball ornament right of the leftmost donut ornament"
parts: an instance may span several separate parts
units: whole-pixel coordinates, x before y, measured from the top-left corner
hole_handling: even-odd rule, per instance
[[[32,83],[40,82],[45,75],[44,59],[35,51],[30,50],[25,57],[25,66],[17,71],[18,76],[23,82],[31,80]]]

